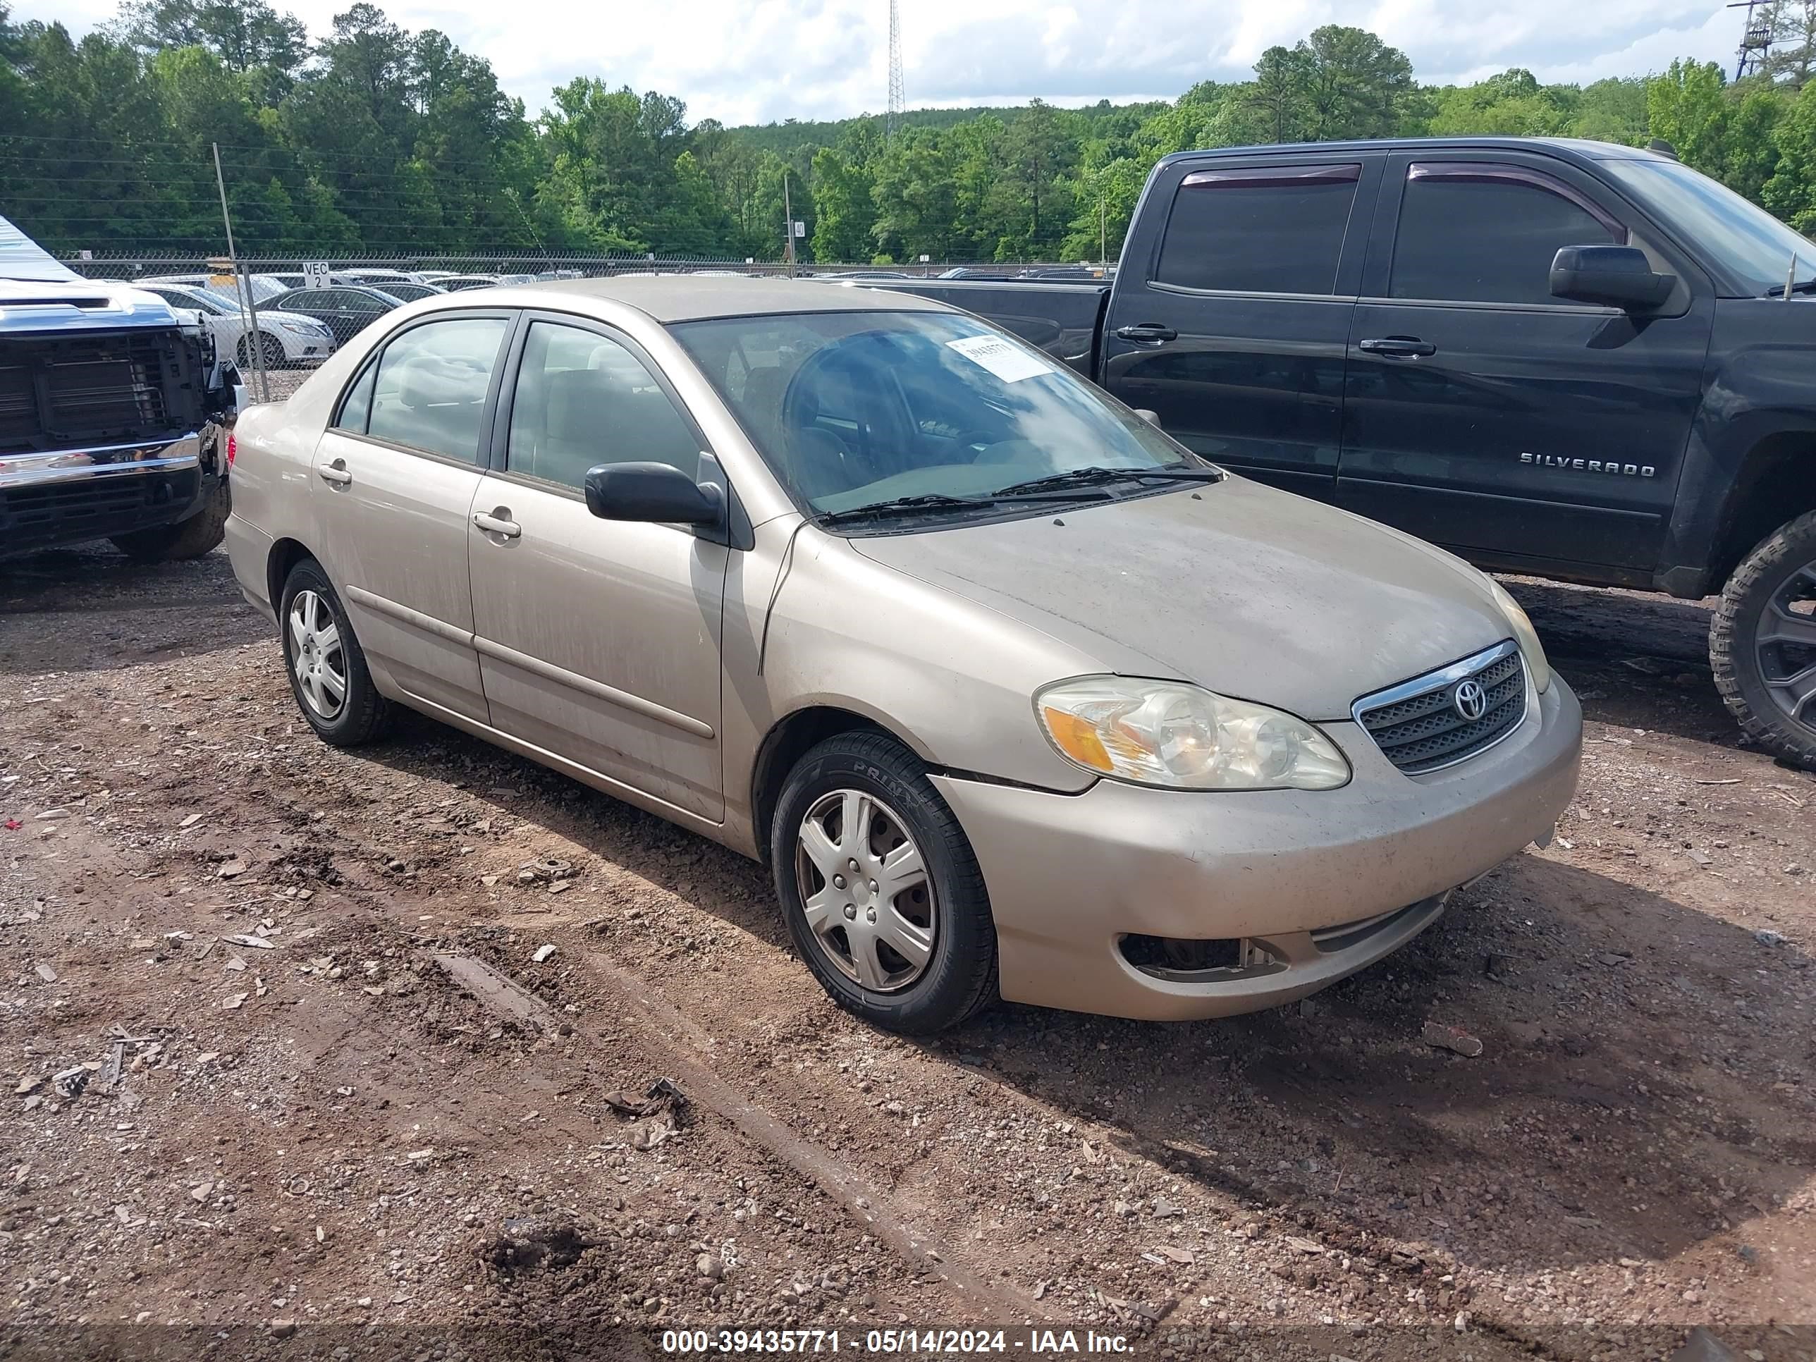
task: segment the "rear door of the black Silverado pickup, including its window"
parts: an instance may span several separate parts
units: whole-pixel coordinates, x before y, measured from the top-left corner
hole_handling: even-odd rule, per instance
[[[1382,162],[1282,151],[1166,167],[1122,254],[1102,385],[1206,458],[1335,496],[1344,352]]]

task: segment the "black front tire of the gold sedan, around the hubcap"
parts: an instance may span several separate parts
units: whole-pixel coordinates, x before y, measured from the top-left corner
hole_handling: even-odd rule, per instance
[[[795,855],[801,823],[815,801],[837,790],[866,792],[901,817],[921,848],[933,888],[939,915],[932,957],[899,992],[872,992],[841,973],[806,921]],[[984,875],[959,821],[926,779],[926,768],[893,737],[839,734],[795,763],[775,803],[770,864],[801,959],[846,1012],[888,1031],[930,1035],[997,1001],[997,926]]]

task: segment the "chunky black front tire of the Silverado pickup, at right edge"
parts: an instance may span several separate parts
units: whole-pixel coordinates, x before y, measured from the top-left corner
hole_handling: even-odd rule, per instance
[[[1801,574],[1801,577],[1800,577]],[[1780,527],[1734,568],[1722,590],[1722,605],[1709,625],[1709,665],[1727,708],[1758,746],[1774,757],[1816,770],[1816,697],[1791,714],[1774,694],[1765,672],[1760,634],[1772,616],[1772,601],[1796,583],[1816,583],[1816,510]],[[1816,585],[1811,587],[1816,590]],[[1811,599],[1805,594],[1803,599]],[[1816,627],[1816,616],[1809,617]],[[1776,679],[1816,668],[1816,646],[1778,643]]]

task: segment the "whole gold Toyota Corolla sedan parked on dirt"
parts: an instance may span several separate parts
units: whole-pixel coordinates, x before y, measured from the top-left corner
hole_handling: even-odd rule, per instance
[[[242,416],[227,543],[325,741],[407,705],[766,861],[901,1031],[1304,997],[1576,786],[1493,581],[906,294],[412,303]]]

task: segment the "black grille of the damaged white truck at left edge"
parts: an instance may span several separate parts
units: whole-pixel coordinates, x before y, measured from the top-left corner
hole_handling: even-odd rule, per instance
[[[169,432],[174,341],[154,334],[0,343],[0,454]]]

